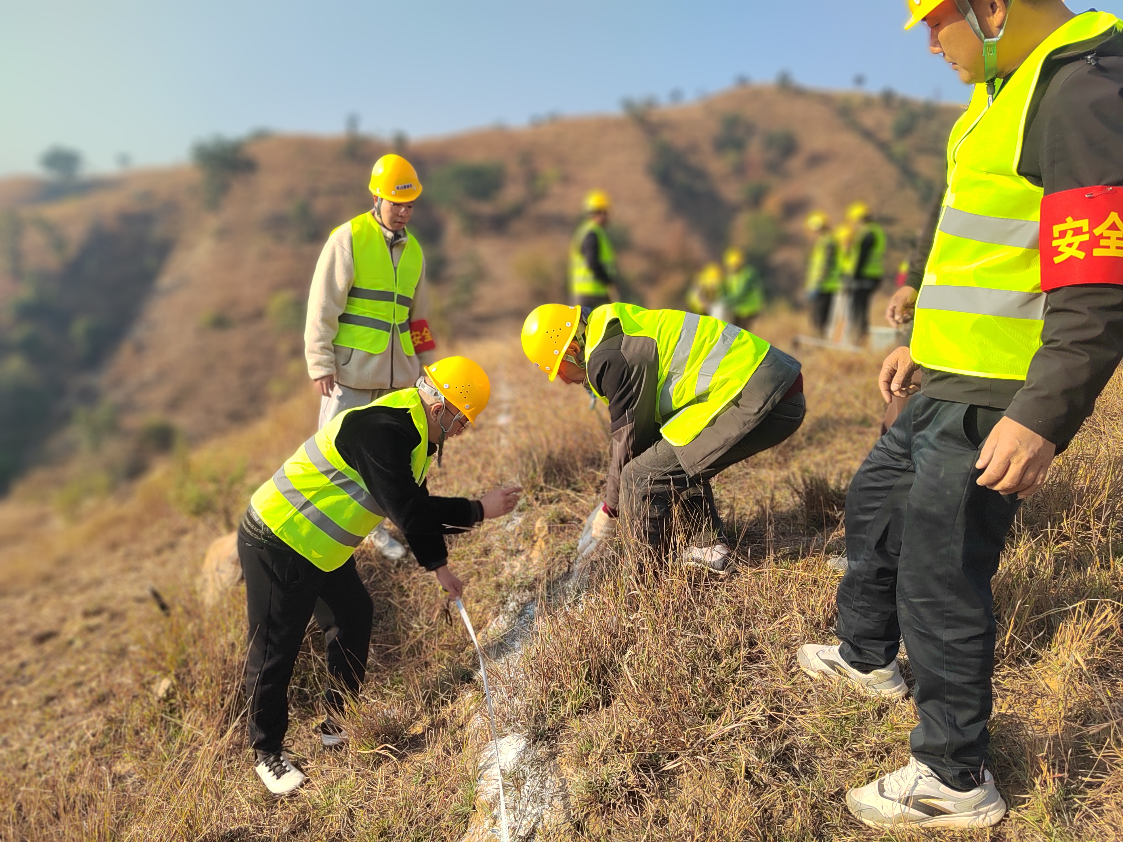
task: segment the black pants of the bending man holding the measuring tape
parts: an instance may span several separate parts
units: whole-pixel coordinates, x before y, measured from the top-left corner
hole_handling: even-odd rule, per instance
[[[355,570],[354,557],[326,573],[293,550],[238,530],[238,558],[246,574],[249,651],[246,697],[249,744],[280,751],[289,729],[289,680],[308,621],[328,642],[328,711],[343,708],[345,693],[358,692],[366,675],[374,606]]]

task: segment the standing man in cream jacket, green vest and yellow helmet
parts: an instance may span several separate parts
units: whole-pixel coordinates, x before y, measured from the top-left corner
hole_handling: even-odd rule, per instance
[[[383,155],[369,186],[374,210],[331,232],[308,294],[304,358],[321,395],[321,429],[344,410],[412,386],[436,348],[424,255],[405,228],[421,181],[405,158]],[[387,558],[405,556],[384,523],[372,541]]]

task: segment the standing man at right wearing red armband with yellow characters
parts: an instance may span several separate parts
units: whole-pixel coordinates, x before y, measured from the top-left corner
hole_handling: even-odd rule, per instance
[[[975,94],[951,131],[919,295],[894,301],[914,310],[913,338],[886,358],[882,394],[915,392],[917,370],[921,391],[850,483],[841,644],[805,646],[798,661],[900,697],[903,637],[912,758],[847,804],[873,825],[983,827],[1006,812],[987,757],[990,579],[1020,501],[1123,354],[1123,24],[1062,0],[909,7]]]

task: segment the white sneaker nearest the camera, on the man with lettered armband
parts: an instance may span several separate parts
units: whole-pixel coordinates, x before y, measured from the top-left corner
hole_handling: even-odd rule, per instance
[[[846,794],[846,805],[871,827],[910,824],[917,827],[989,827],[1006,815],[990,772],[983,786],[966,793],[941,781],[924,763],[909,765]]]

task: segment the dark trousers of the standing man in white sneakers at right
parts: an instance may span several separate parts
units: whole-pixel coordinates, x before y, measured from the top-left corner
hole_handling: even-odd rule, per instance
[[[950,787],[983,780],[995,619],[990,578],[1015,496],[976,485],[1001,410],[917,394],[877,440],[846,500],[849,569],[838,589],[840,653],[868,672],[903,637],[920,724],[912,753]]]

